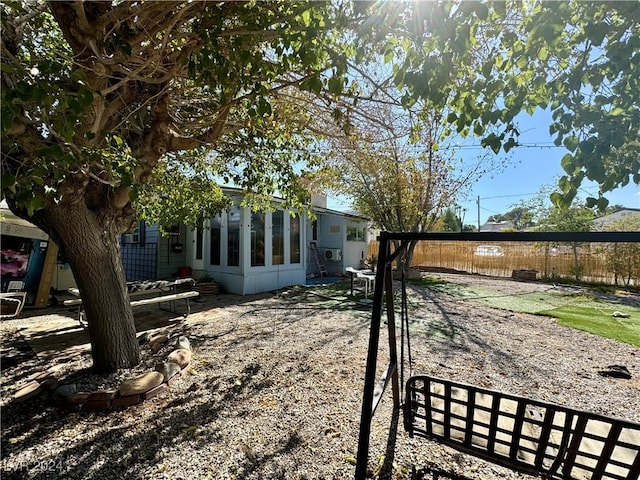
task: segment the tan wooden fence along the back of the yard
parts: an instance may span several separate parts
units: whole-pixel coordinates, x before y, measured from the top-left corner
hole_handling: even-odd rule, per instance
[[[607,252],[621,245],[629,246],[581,243],[574,252],[570,244],[543,242],[423,241],[416,245],[411,266],[501,277],[510,277],[515,270],[535,270],[537,278],[579,277],[586,282],[640,285],[640,271],[628,282],[628,278],[616,275],[608,265],[607,256],[611,254]],[[377,255],[377,250],[377,242],[371,242],[369,255]]]

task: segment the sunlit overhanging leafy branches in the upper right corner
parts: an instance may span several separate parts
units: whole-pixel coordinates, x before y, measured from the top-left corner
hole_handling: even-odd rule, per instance
[[[520,112],[550,110],[549,131],[568,151],[556,204],[584,179],[600,195],[640,183],[638,2],[416,2],[410,21],[404,13],[387,4],[377,15],[406,104],[450,106],[452,127],[496,152],[517,146]],[[501,131],[485,135],[491,125]]]

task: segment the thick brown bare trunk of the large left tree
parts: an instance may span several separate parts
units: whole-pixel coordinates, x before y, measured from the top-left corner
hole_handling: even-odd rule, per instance
[[[110,228],[116,222],[99,219],[82,202],[47,208],[45,215],[82,296],[94,370],[109,373],[137,365],[140,351],[117,229]]]

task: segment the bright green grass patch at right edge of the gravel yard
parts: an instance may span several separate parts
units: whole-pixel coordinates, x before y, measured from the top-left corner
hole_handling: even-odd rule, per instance
[[[616,310],[628,314],[629,318],[612,316]],[[640,347],[640,309],[637,308],[614,309],[607,304],[571,304],[544,310],[539,314],[557,318],[559,325]]]

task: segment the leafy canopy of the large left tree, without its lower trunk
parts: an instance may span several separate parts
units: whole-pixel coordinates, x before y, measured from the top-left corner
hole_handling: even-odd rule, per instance
[[[297,198],[292,164],[304,145],[296,135],[304,113],[291,116],[293,97],[279,93],[341,90],[343,69],[330,55],[340,48],[342,7],[6,2],[3,9],[2,134],[10,139],[3,195],[29,215],[81,193],[96,208],[105,195],[110,208],[123,208],[149,180],[175,190],[167,182],[180,168]],[[164,174],[155,176],[157,167]],[[211,214],[224,204],[205,205]]]

